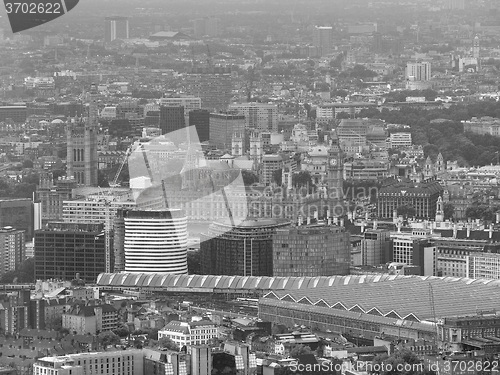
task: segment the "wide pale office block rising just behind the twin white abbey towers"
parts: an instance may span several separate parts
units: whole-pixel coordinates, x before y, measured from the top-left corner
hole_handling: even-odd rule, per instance
[[[230,111],[245,116],[245,129],[278,131],[278,106],[265,103],[231,104]]]

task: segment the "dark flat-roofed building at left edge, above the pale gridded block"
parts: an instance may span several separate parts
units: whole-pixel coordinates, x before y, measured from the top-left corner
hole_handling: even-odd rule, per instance
[[[31,241],[34,230],[34,208],[31,199],[0,199],[0,228],[12,227],[24,231],[26,241]]]

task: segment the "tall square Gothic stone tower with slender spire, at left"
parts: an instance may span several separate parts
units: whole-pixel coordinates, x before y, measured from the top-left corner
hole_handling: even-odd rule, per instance
[[[87,120],[74,119],[66,128],[67,176],[73,177],[78,185],[97,186],[98,128],[97,86],[92,85]]]

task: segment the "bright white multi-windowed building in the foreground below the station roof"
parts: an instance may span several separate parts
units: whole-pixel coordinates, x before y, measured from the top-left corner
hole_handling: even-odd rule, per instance
[[[158,340],[166,337],[172,340],[179,348],[186,345],[208,344],[218,337],[218,329],[210,320],[198,322],[179,322],[173,320],[158,331]]]

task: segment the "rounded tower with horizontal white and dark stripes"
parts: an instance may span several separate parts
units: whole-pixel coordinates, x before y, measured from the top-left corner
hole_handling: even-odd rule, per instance
[[[124,212],[125,272],[187,273],[187,217],[181,210]]]

